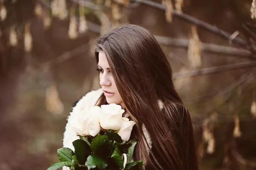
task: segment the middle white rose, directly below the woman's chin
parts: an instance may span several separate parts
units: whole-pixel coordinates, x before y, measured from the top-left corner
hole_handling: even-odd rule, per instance
[[[105,130],[120,130],[125,110],[117,104],[102,105],[101,108],[100,126]]]

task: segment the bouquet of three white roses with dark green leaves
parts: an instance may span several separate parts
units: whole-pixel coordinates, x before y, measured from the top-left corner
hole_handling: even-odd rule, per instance
[[[70,170],[129,170],[142,169],[143,161],[132,161],[136,139],[130,139],[134,121],[123,118],[120,105],[108,104],[82,110],[68,123],[80,139],[70,148],[58,149],[60,162],[48,170],[67,166]]]

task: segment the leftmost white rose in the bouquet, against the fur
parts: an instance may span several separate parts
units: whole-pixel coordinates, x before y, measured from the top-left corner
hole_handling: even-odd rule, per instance
[[[77,135],[96,136],[100,131],[99,114],[101,108],[94,106],[89,111],[81,111],[69,119],[69,124]]]

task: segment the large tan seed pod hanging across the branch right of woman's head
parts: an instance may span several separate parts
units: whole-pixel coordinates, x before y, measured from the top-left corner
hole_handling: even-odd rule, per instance
[[[188,44],[188,61],[190,66],[198,68],[202,65],[201,61],[201,42],[198,37],[197,29],[195,26],[191,27],[191,32],[189,34],[189,44]]]

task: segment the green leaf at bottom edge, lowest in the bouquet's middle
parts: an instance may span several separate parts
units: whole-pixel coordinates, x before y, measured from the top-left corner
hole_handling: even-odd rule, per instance
[[[98,167],[99,169],[105,169],[108,166],[108,162],[105,159],[92,154],[88,156],[85,165],[88,167],[88,170],[95,167]]]

